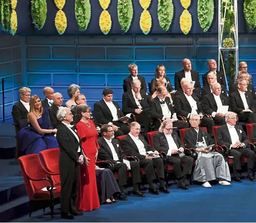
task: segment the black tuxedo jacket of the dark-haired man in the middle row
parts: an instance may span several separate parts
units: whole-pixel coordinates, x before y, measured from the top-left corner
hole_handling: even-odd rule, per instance
[[[117,108],[118,118],[123,117],[124,114],[122,113],[118,103],[113,101],[113,104]],[[93,114],[94,114],[94,118],[96,119],[96,122],[100,124],[108,124],[109,122],[113,122],[113,116],[111,114],[110,109],[108,108],[108,105],[105,103],[104,99],[101,99],[100,101],[97,101],[94,104]]]

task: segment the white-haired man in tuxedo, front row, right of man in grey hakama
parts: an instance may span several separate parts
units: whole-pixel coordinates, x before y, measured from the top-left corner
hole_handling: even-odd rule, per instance
[[[252,170],[255,162],[255,153],[247,146],[249,138],[243,130],[242,126],[236,125],[236,114],[234,112],[227,112],[226,124],[217,129],[217,143],[218,145],[226,145],[230,149],[230,156],[233,158],[233,180],[242,182],[237,176],[238,170],[241,170],[241,156],[246,156],[247,160],[247,178],[250,181],[255,181]]]

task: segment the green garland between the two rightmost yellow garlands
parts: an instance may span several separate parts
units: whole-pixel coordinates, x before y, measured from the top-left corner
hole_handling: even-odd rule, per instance
[[[174,17],[174,4],[172,0],[158,0],[157,15],[159,25],[168,31]]]

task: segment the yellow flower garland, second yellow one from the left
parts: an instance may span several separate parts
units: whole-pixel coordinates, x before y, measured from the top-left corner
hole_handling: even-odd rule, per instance
[[[62,35],[64,34],[68,25],[67,17],[65,13],[62,11],[62,8],[65,5],[65,0],[54,0],[54,3],[56,4],[56,7],[59,9],[55,16],[55,27],[58,33]]]

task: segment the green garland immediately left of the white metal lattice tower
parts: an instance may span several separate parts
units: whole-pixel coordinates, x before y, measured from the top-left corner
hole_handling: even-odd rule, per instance
[[[214,2],[213,0],[198,0],[197,17],[204,32],[207,32],[213,22]]]

